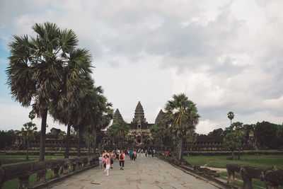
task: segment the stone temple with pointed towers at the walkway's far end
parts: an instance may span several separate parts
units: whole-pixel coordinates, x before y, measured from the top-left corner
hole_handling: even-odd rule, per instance
[[[161,110],[162,111],[162,110]],[[159,117],[161,113],[158,114]],[[156,120],[160,120],[157,116]],[[120,111],[117,109],[114,113],[113,124],[123,120]],[[129,124],[129,134],[127,135],[127,142],[129,145],[149,145],[153,143],[153,138],[149,131],[150,127],[154,123],[146,122],[144,118],[144,108],[142,108],[141,102],[137,103],[136,110],[134,111],[134,118]]]

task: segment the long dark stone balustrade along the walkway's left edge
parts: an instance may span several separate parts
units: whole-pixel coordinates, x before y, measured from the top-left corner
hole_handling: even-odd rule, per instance
[[[71,159],[54,159],[37,161],[13,166],[0,166],[0,188],[6,181],[13,178],[19,179],[18,188],[40,188],[41,185],[89,168],[96,164],[98,155],[81,156]],[[51,171],[50,178],[46,178],[47,170]],[[59,173],[60,171],[60,173]],[[30,186],[29,178],[37,173],[37,182]]]

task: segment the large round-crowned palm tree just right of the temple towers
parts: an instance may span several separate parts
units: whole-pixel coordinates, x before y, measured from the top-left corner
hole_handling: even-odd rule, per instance
[[[200,115],[197,106],[187,99],[185,93],[173,95],[173,99],[165,106],[165,122],[169,125],[169,132],[179,139],[178,160],[183,160],[183,137],[189,130],[195,129]]]

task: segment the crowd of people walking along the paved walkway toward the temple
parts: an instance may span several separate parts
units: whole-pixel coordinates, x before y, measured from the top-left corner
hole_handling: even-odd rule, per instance
[[[100,154],[98,160],[99,160],[99,167],[100,168],[105,168],[104,172],[106,172],[105,176],[109,176],[109,170],[110,168],[113,168],[113,164],[115,159],[119,160],[120,164],[120,170],[124,170],[124,165],[125,165],[125,159],[126,155],[129,155],[129,159],[136,161],[137,159],[137,154],[141,156],[141,154],[145,153],[145,156],[152,156],[154,157],[154,154],[156,153],[155,149],[126,149],[125,152],[123,150],[120,151],[120,149],[117,150],[112,150],[110,153],[105,149],[103,154]]]

